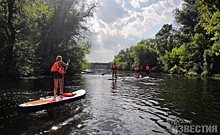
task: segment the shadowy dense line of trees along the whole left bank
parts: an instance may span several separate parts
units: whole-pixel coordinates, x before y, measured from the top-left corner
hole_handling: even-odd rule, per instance
[[[0,0],[0,77],[50,74],[57,55],[71,59],[68,72],[88,66],[87,18],[98,2]]]

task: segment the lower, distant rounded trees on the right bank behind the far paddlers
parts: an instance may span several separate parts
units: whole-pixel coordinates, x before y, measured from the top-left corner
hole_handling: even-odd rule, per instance
[[[155,67],[157,65],[157,52],[150,46],[152,42],[151,39],[144,39],[129,49],[121,50],[113,61],[121,70],[134,70],[137,65],[143,70],[147,64]]]

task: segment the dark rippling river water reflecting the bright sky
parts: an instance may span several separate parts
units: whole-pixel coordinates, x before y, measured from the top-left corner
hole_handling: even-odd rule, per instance
[[[110,74],[66,77],[65,92],[85,89],[86,96],[33,112],[17,107],[51,96],[53,78],[1,80],[0,135],[220,133],[220,80],[132,74],[121,72],[117,81]]]

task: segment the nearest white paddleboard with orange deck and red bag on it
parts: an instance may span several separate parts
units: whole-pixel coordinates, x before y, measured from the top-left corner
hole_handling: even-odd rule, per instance
[[[40,98],[39,100],[25,102],[23,104],[20,104],[18,108],[24,110],[24,109],[35,109],[39,107],[46,107],[50,105],[64,103],[67,101],[77,100],[85,95],[86,95],[86,91],[81,89],[70,93],[63,93],[64,97],[62,99],[60,99],[60,97],[57,97],[56,101],[53,101],[53,96],[50,96],[48,98]]]

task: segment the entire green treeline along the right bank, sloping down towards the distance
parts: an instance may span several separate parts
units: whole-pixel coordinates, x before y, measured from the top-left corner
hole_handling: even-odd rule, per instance
[[[121,50],[114,58],[119,68],[150,64],[171,74],[220,74],[220,1],[184,0],[174,17],[176,27],[164,24],[154,39]]]

